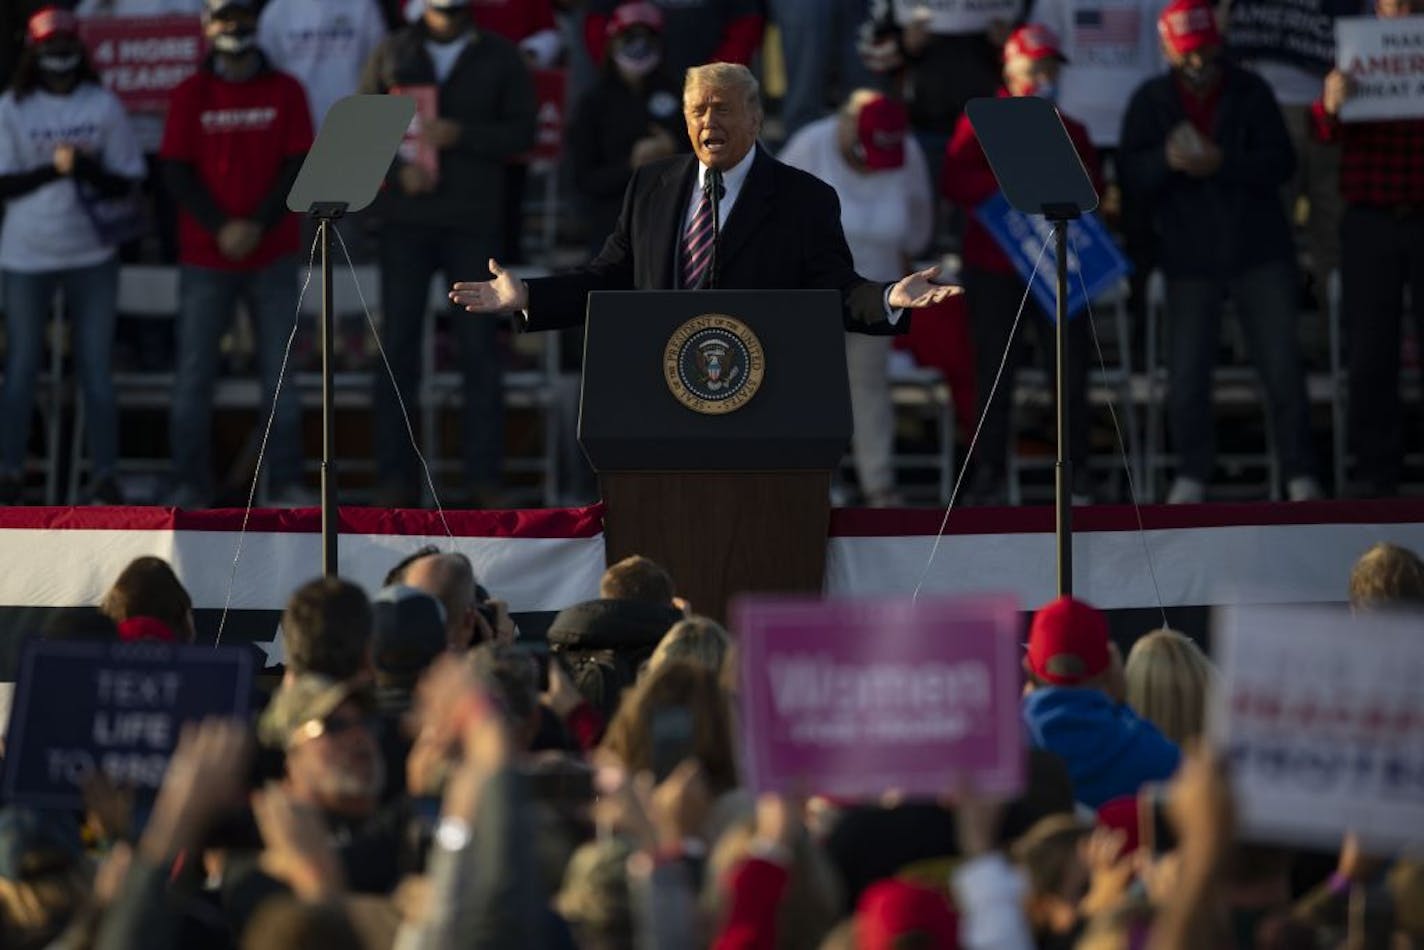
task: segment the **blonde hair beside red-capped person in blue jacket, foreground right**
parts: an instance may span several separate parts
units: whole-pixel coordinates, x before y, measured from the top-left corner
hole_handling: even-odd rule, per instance
[[[1132,645],[1124,677],[1128,705],[1168,739],[1182,745],[1202,735],[1216,668],[1189,637],[1153,630]]]

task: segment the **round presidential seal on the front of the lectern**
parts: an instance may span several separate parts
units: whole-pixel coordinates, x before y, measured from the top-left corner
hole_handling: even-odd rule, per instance
[[[679,326],[662,350],[662,375],[679,403],[708,416],[736,412],[762,386],[762,342],[742,320],[703,313]]]

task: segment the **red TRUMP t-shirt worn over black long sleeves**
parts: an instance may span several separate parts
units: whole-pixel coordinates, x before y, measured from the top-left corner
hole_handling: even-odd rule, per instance
[[[204,68],[174,90],[158,154],[194,165],[224,214],[251,218],[282,165],[310,147],[306,93],[293,77],[265,70],[245,83],[229,83]],[[188,211],[178,219],[178,256],[201,268],[255,271],[295,254],[299,242],[300,222],[285,214],[251,255],[229,261],[218,251],[216,235]]]

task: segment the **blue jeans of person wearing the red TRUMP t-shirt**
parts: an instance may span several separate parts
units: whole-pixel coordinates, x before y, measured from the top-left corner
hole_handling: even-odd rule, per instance
[[[178,271],[178,375],[174,380],[169,442],[174,479],[199,497],[212,496],[212,389],[218,345],[232,309],[246,303],[256,332],[262,379],[261,424],[266,426],[282,353],[296,318],[296,258],[285,256],[258,271],[219,271],[182,265]],[[290,369],[290,367],[289,367]],[[272,422],[263,464],[269,486],[281,490],[302,480],[302,406],[289,377]]]

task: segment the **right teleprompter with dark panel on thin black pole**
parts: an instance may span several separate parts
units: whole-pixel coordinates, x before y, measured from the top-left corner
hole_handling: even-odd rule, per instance
[[[1054,467],[1058,593],[1072,594],[1072,459],[1068,454],[1068,222],[1098,207],[1098,192],[1052,103],[1038,97],[977,98],[965,107],[1008,204],[1044,215],[1057,258],[1058,457]],[[1012,345],[1012,340],[1010,340]]]

